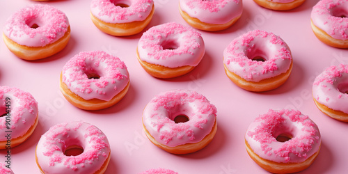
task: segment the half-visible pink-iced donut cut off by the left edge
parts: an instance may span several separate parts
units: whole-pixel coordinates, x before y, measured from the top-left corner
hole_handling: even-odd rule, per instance
[[[0,86],[0,149],[15,148],[38,125],[38,102],[18,88]]]

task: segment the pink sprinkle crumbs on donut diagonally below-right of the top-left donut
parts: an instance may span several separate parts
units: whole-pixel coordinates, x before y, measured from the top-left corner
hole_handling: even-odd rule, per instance
[[[99,68],[100,63],[105,63],[106,68]],[[115,84],[115,80],[128,79],[127,75],[122,74],[118,68],[126,69],[127,67],[115,56],[100,51],[80,52],[63,67],[63,82],[70,88],[73,88],[72,82],[77,82],[81,87],[76,89],[81,93],[104,95],[106,92],[103,88],[109,84]],[[68,70],[72,70],[72,72],[68,72]],[[100,74],[100,78],[88,79],[87,74]],[[99,89],[93,90],[91,84],[95,84]],[[116,86],[113,89],[116,90]]]

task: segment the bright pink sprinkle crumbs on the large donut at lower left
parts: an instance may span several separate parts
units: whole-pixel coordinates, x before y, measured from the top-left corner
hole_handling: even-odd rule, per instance
[[[88,123],[61,123],[51,127],[45,134],[42,135],[41,139],[44,139],[42,143],[44,143],[44,146],[46,147],[46,151],[42,152],[42,155],[49,157],[49,166],[55,166],[55,164],[63,163],[66,168],[70,168],[72,171],[77,171],[79,166],[83,167],[86,164],[93,164],[93,161],[100,160],[101,156],[106,158],[107,155],[103,151],[109,151],[109,142],[100,129],[89,124],[89,126],[86,127],[83,132],[85,132],[85,139],[88,137],[90,138],[88,144],[90,144],[92,148],[89,148],[89,150],[84,149],[84,152],[77,156],[68,157],[63,154],[62,148],[66,148],[68,145],[71,145],[69,144],[70,136],[72,136],[70,134],[79,134],[77,129],[80,129],[81,125],[86,124]]]

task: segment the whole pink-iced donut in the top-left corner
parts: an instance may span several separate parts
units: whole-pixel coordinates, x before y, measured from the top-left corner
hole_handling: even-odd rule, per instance
[[[52,56],[68,44],[70,25],[61,10],[34,4],[20,9],[6,21],[3,40],[17,57],[33,61]]]

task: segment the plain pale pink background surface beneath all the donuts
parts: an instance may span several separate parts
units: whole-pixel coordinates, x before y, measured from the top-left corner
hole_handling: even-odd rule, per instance
[[[0,26],[29,0],[1,1]],[[311,88],[314,78],[329,65],[348,63],[348,52],[320,42],[310,27],[310,11],[317,0],[287,12],[261,8],[244,0],[241,19],[230,29],[209,33],[201,31],[206,54],[192,72],[174,79],[155,79],[136,60],[136,45],[141,33],[113,37],[99,31],[89,17],[90,1],[57,0],[45,2],[62,10],[70,20],[71,39],[62,52],[40,61],[23,61],[0,42],[0,85],[30,92],[39,103],[39,123],[30,139],[13,148],[15,173],[39,173],[35,164],[35,145],[49,127],[61,122],[84,120],[96,125],[111,144],[111,161],[106,173],[140,173],[149,168],[169,168],[178,173],[267,173],[248,157],[244,133],[260,113],[268,109],[299,109],[314,120],[322,134],[322,148],[312,166],[302,173],[345,173],[348,171],[348,125],[317,109]],[[166,22],[186,24],[180,16],[178,1],[155,0],[155,15],[149,26]],[[287,82],[265,93],[251,93],[228,79],[222,62],[223,49],[246,31],[262,29],[280,35],[292,50],[294,68]],[[131,86],[125,98],[102,111],[84,111],[67,102],[59,91],[63,65],[79,52],[103,50],[120,57],[128,67]],[[189,155],[172,155],[157,148],[143,133],[144,106],[158,93],[171,89],[196,90],[218,110],[218,129],[212,143]],[[0,162],[6,150],[0,150]]]

